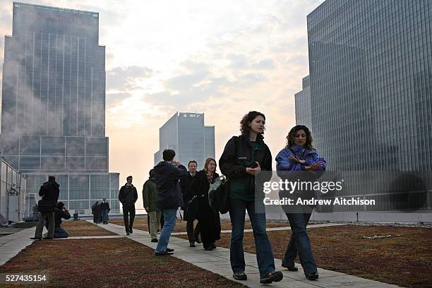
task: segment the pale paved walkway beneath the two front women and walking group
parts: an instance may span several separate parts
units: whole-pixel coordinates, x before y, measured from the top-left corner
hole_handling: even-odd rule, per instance
[[[91,222],[91,221],[89,221]],[[326,224],[320,224],[326,225]],[[125,235],[124,227],[115,224],[99,225],[100,227],[107,229],[119,235]],[[312,227],[313,225],[311,225]],[[323,227],[314,225],[316,227]],[[327,226],[329,226],[327,224]],[[286,228],[286,227],[282,227]],[[156,243],[150,241],[150,234],[142,230],[133,230],[133,234],[127,236],[133,241],[137,241],[140,244],[156,247]],[[229,264],[229,249],[217,247],[213,251],[205,251],[202,245],[198,245],[195,248],[189,247],[189,242],[186,239],[180,239],[171,237],[169,239],[169,248],[174,248],[174,257],[184,260],[188,263],[192,263],[200,268],[209,270],[216,274],[227,277],[229,280],[245,284],[248,287],[265,287],[264,284],[259,283],[260,275],[258,271],[258,264],[256,262],[256,255],[252,253],[244,253],[246,261],[246,274],[248,280],[237,281],[232,277],[232,270]],[[276,270],[282,270],[281,260],[275,259]],[[296,287],[296,288],[337,288],[337,287],[352,287],[352,288],[388,288],[397,287],[396,285],[386,284],[373,280],[367,280],[361,277],[347,275],[340,272],[334,272],[330,270],[324,270],[318,268],[320,279],[318,281],[308,281],[304,277],[304,272],[299,266],[298,272],[289,272],[282,270],[284,279],[281,282],[274,282],[271,284],[272,287]]]

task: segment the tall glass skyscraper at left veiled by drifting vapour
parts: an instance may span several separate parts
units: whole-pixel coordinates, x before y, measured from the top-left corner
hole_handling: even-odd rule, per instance
[[[105,47],[99,14],[13,2],[5,37],[1,152],[37,193],[47,175],[69,209],[106,197],[119,209],[119,174],[108,173]]]

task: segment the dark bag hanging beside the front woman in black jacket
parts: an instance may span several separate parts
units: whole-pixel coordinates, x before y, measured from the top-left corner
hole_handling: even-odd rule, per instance
[[[215,212],[225,214],[229,210],[229,179],[217,177],[208,188],[208,204]]]

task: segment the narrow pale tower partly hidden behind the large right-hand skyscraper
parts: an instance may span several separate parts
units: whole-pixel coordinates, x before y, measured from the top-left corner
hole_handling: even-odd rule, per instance
[[[311,129],[311,80],[309,76],[303,78],[303,90],[294,94],[296,105],[296,125],[304,125]]]

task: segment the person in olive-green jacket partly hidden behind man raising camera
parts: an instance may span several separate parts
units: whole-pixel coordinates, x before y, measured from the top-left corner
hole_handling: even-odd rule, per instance
[[[157,209],[157,191],[156,191],[156,181],[152,176],[153,169],[149,172],[148,180],[145,181],[143,185],[143,205],[145,212],[147,212],[150,217],[150,236],[152,237],[152,242],[157,242],[157,230],[159,229],[160,216],[162,212]]]

